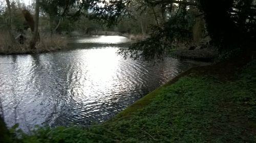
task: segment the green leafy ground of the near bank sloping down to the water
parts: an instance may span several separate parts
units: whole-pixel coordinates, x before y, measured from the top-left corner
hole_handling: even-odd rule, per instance
[[[19,142],[256,142],[256,62],[236,79],[187,74],[91,127],[39,128]]]

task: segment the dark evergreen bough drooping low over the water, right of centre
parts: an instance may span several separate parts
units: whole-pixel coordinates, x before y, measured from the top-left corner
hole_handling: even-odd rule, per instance
[[[120,49],[118,54],[125,58],[142,60],[163,60],[173,48],[174,42],[191,39],[191,27],[185,10],[170,18],[163,25],[153,25],[149,38],[132,44],[128,49]]]

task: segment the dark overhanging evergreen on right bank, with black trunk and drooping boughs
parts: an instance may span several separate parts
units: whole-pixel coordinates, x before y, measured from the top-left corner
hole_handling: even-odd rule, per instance
[[[131,14],[129,6],[132,2],[132,0],[105,2],[106,6],[95,6],[94,11],[99,14],[96,17],[106,19],[106,21],[110,20],[112,24],[117,22],[120,17]],[[248,47],[246,44],[256,41],[255,0],[143,0],[142,4],[141,7],[153,7],[157,24],[153,26],[150,38],[133,44],[129,49],[119,51],[125,56],[134,58],[142,56],[144,59],[162,58],[164,54],[168,54],[172,43],[177,39],[189,40],[193,29],[191,25],[195,22],[196,17],[195,15],[190,16],[189,9],[191,8],[202,12],[200,15],[205,19],[207,32],[220,50],[244,49],[244,47]],[[166,20],[162,20],[164,22],[160,24],[155,7],[160,7],[160,10],[162,8],[162,11],[166,12],[166,6],[169,7],[169,14],[167,14]],[[178,8],[174,10],[177,6]],[[194,20],[189,17],[194,17]]]

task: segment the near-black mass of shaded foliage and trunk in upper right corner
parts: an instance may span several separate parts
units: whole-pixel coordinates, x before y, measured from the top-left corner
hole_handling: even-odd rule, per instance
[[[255,5],[253,0],[200,0],[199,8],[205,13],[207,30],[220,49],[245,48],[255,40]]]

